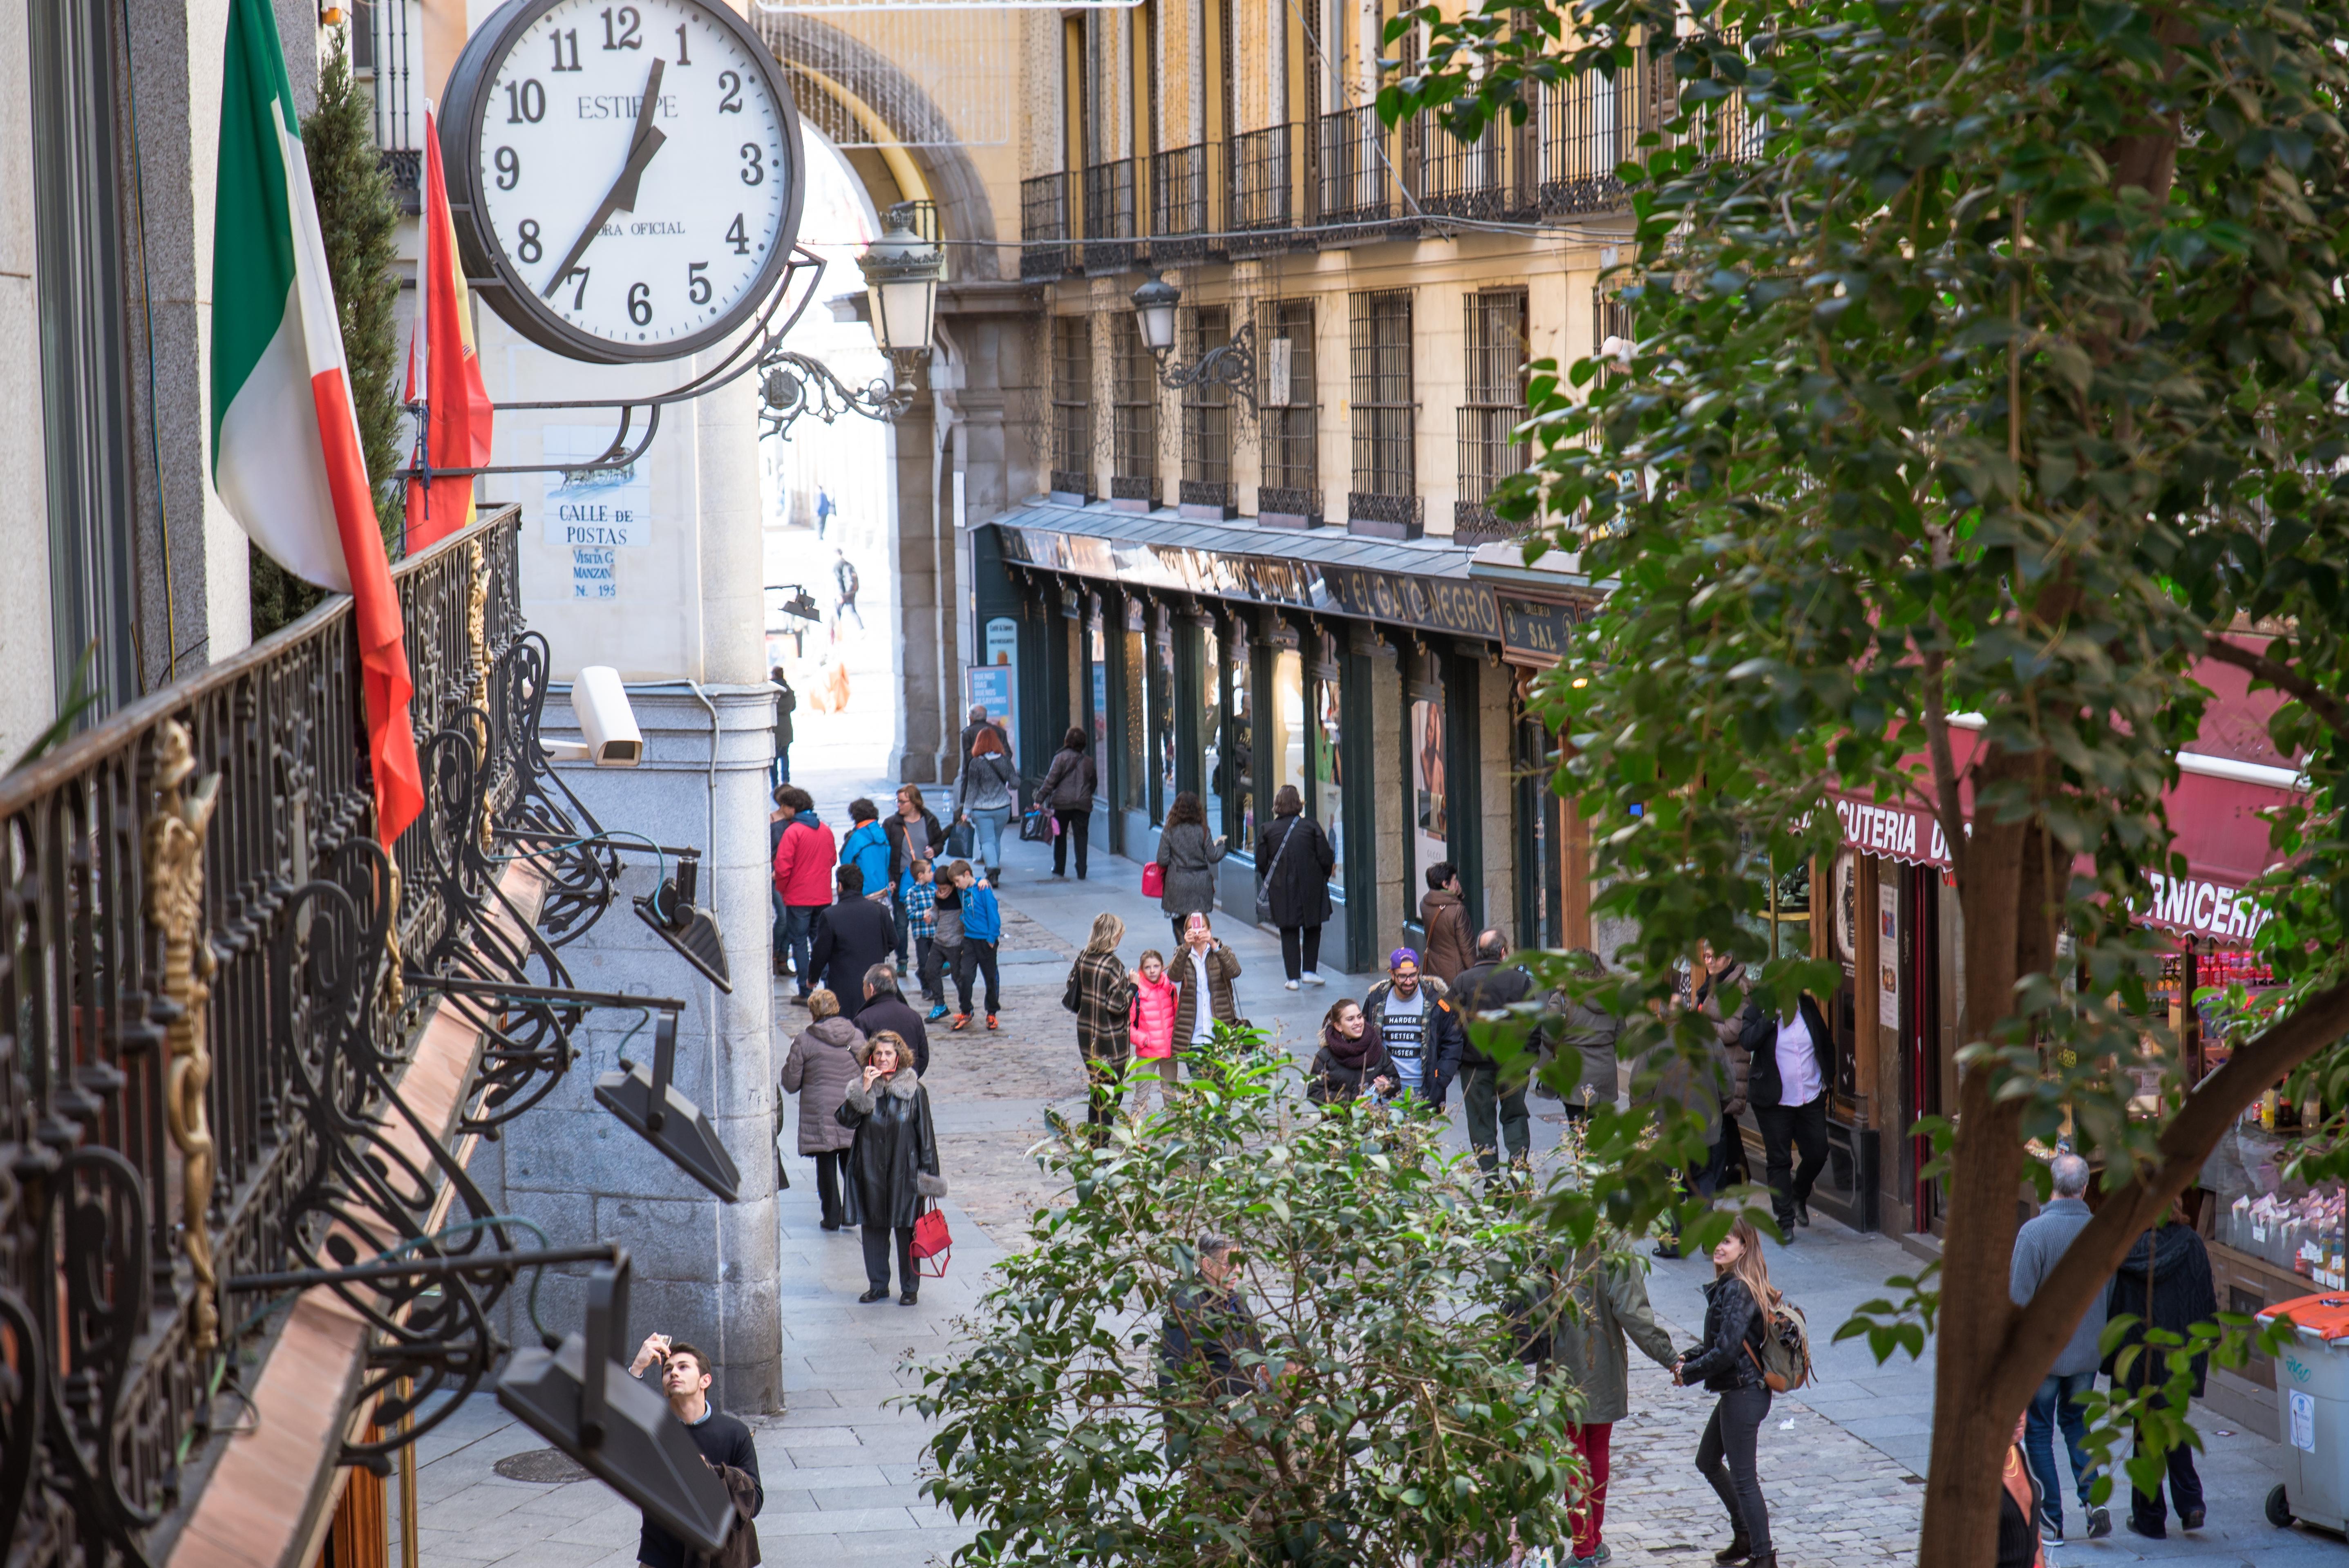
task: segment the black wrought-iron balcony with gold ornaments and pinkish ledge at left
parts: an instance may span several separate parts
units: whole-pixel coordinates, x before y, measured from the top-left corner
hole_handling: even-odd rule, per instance
[[[305,1556],[493,1373],[561,1380],[498,1340],[521,1270],[625,1277],[465,1174],[613,1005],[559,955],[620,861],[538,742],[517,545],[505,507],[392,570],[425,798],[390,852],[348,596],[0,777],[12,1568]]]

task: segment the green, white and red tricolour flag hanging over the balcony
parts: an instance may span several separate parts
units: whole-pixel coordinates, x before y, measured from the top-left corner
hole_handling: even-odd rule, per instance
[[[399,599],[270,0],[230,0],[211,237],[211,484],[296,577],[352,599],[388,850],[423,810]]]

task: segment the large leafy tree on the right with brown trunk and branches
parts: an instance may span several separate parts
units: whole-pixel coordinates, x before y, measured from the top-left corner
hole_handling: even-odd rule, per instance
[[[1985,1566],[2015,1418],[2128,1244],[2260,1091],[2349,1103],[2349,9],[1543,0],[1388,40],[1421,26],[1381,108],[1456,134],[1642,59],[1677,87],[1623,169],[1607,286],[1637,345],[1536,366],[1536,460],[1501,502],[1539,514],[1527,554],[1618,584],[1539,702],[1576,749],[1595,908],[1640,927],[1602,986],[1628,1049],[1665,1045],[1701,941],[1776,1009],[1835,984],[1762,965],[1748,920],[1771,866],[1832,850],[1830,791],[1936,815],[1966,1002],[1926,1127],[1943,1268],[1849,1331],[1879,1354],[1938,1331],[1919,1563]],[[2309,793],[2260,894],[2283,986],[2232,998],[2234,1052],[2194,1082],[2133,913],[2185,873],[2163,791],[2206,660],[2288,697],[2271,737]],[[2025,1145],[2065,1131],[2107,1197],[2018,1310]],[[1633,1134],[1595,1120],[1644,1216],[1672,1138]],[[2304,1171],[2340,1174],[2340,1141],[2335,1115]],[[2239,1352],[2241,1319],[2210,1338]],[[2192,1441],[2182,1404],[2149,1439]]]

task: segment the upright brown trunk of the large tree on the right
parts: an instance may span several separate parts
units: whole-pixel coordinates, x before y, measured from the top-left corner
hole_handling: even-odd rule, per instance
[[[1990,753],[1978,786],[2037,782],[2034,756]],[[1966,1012],[1959,1038],[1983,1040],[2008,1009],[2015,979],[2053,962],[2048,869],[2058,850],[2037,822],[1978,819],[1959,901],[1966,911]],[[2065,866],[2069,871],[2069,866]],[[1990,1068],[1959,1075],[1957,1141],[1940,1256],[1940,1329],[1933,1359],[1933,1458],[1924,1493],[1919,1568],[1992,1568],[1999,1549],[1999,1474],[2022,1406],[2006,1408],[1997,1366],[2015,1307],[2006,1279],[2022,1190],[2022,1108],[1992,1099]]]

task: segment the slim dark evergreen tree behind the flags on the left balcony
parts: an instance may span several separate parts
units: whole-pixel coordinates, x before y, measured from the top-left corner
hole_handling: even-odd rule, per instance
[[[399,554],[399,519],[406,491],[385,477],[399,467],[399,303],[397,230],[399,197],[376,148],[373,101],[350,75],[350,52],[336,33],[334,54],[317,80],[317,108],[301,124],[310,160],[317,225],[327,242],[336,312],[343,317],[343,357],[350,361],[350,397],[359,413],[359,448],[376,479],[376,521],[383,547]],[[294,573],[251,552],[254,636],[301,620],[324,594]]]

